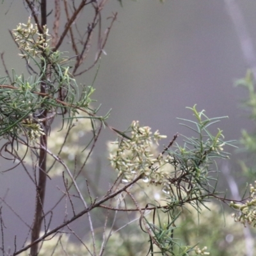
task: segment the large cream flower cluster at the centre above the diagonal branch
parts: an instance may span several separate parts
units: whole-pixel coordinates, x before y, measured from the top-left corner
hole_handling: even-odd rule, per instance
[[[165,186],[170,174],[170,156],[156,153],[158,141],[166,138],[150,127],[140,127],[138,121],[131,124],[131,139],[111,142],[109,161],[123,176],[123,182],[130,182],[136,175],[143,175],[143,181]],[[158,155],[158,156],[157,156]]]

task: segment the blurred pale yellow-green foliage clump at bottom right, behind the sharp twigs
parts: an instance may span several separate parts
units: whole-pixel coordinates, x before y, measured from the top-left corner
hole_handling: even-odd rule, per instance
[[[207,246],[210,255],[239,256],[245,252],[243,226],[234,223],[231,214],[218,202],[209,202],[198,213],[184,207],[177,236],[184,244]]]

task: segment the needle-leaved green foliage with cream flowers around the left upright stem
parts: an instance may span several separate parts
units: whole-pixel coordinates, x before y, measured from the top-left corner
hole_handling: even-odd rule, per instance
[[[49,48],[49,40],[45,39],[48,35],[46,27],[44,33],[40,34],[29,19],[28,24],[19,24],[13,35],[22,51],[21,58],[33,60],[40,70],[40,76],[25,79],[13,72],[12,85],[0,87],[0,136],[9,140],[23,140],[22,136],[28,141],[36,140],[47,129],[42,125],[45,121],[41,118],[42,106],[47,113],[52,114],[52,118],[58,112],[63,117],[68,113],[63,122],[67,120],[72,123],[78,113],[77,109],[81,113],[79,118],[106,118],[95,116],[99,109],[90,108],[94,92],[92,86],[78,86],[76,79],[68,72],[68,58],[63,56],[63,52],[52,52]],[[7,77],[3,77],[1,84],[6,81]],[[40,86],[45,87],[44,92],[40,91]]]

